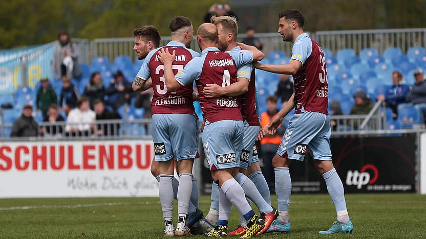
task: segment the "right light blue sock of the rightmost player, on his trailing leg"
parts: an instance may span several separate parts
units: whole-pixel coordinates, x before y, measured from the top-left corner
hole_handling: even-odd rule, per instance
[[[349,221],[348,210],[346,209],[345,192],[342,180],[337,175],[336,169],[332,169],[323,174],[327,184],[328,194],[337,212],[337,221],[347,223]]]

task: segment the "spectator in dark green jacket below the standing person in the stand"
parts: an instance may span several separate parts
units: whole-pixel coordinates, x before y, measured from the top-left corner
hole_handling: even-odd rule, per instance
[[[57,104],[58,97],[47,78],[41,78],[40,85],[41,87],[38,89],[35,98],[35,106],[37,107],[37,111],[41,110],[43,117],[46,117],[49,106]]]

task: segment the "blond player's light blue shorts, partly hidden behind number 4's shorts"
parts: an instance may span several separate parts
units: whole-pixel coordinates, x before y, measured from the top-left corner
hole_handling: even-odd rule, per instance
[[[240,157],[240,168],[247,170],[253,162],[253,145],[259,134],[259,126],[250,126],[244,121],[243,149]],[[257,155],[256,155],[257,157]],[[257,161],[259,158],[257,157]]]

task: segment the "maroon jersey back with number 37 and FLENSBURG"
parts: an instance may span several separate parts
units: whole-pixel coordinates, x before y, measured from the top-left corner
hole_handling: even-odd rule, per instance
[[[183,46],[164,46],[169,52],[176,51],[176,58],[173,62],[173,73],[182,70],[193,56]],[[161,49],[161,48],[160,48]],[[158,59],[158,51],[152,55],[148,64],[153,82],[154,96],[151,102],[152,114],[193,114],[193,87],[185,85],[178,91],[168,91],[164,78],[164,65]]]

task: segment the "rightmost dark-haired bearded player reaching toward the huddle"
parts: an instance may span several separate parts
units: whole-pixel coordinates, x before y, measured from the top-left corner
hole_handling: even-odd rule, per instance
[[[346,209],[343,184],[331,161],[331,129],[327,112],[328,83],[324,52],[318,43],[303,32],[305,18],[302,13],[297,10],[284,10],[280,12],[279,18],[278,33],[282,35],[284,41],[293,43],[289,64],[254,63],[256,68],[277,74],[291,74],[294,79],[294,93],[290,100],[266,127],[270,134],[274,133],[284,116],[295,107],[289,127],[272,159],[279,217],[268,231],[290,231],[288,207],[291,179],[288,167],[292,160],[303,161],[309,149],[316,169],[326,181],[328,193],[337,212],[337,221],[329,230],[319,233],[351,232],[353,225]]]

